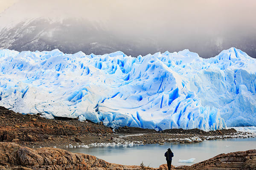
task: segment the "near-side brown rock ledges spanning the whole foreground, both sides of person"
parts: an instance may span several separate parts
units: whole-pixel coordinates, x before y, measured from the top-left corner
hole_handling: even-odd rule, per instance
[[[84,153],[59,148],[31,149],[11,142],[0,142],[1,170],[166,170],[136,165],[113,164]],[[220,154],[192,166],[172,166],[172,170],[255,170],[256,150]]]

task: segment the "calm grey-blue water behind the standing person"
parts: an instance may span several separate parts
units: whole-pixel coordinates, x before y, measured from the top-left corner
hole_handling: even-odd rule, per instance
[[[140,165],[143,161],[145,166],[159,167],[160,164],[166,164],[164,153],[168,148],[171,148],[174,157],[172,164],[191,165],[206,159],[212,158],[220,153],[230,153],[240,150],[256,149],[256,138],[245,139],[218,139],[204,141],[201,143],[192,144],[175,144],[166,143],[146,144],[143,146],[134,147],[90,147],[86,148],[67,148],[73,153],[86,153],[105,161],[125,164],[125,165]],[[179,159],[195,158],[193,163],[180,163]]]

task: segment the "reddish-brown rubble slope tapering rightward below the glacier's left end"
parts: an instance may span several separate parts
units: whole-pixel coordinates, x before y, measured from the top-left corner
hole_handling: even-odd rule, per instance
[[[0,142],[44,142],[57,136],[80,136],[92,133],[113,133],[110,127],[77,120],[45,119],[39,115],[22,115],[0,106]],[[62,139],[63,140],[63,139]],[[71,138],[68,139],[71,142]]]

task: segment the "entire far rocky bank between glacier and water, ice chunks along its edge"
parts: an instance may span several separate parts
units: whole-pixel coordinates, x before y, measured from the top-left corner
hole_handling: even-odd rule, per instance
[[[255,133],[235,129],[203,131],[169,129],[155,131],[137,127],[110,127],[76,119],[45,119],[38,115],[20,114],[0,107],[0,142],[15,142],[31,148],[95,147],[113,145],[193,143],[212,139],[256,137]]]

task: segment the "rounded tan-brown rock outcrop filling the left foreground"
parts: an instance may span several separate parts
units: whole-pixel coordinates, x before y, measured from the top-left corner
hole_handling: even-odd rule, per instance
[[[2,167],[1,167],[2,166]],[[95,156],[43,147],[31,149],[10,142],[0,142],[1,170],[140,170],[140,166],[108,163]],[[145,170],[155,170],[145,167]]]

